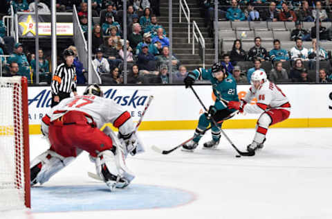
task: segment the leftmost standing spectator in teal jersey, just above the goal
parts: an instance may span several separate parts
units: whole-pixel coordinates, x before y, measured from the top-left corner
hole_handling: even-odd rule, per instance
[[[23,51],[23,44],[17,43],[14,46],[14,53],[10,55],[8,58],[8,64],[12,62],[16,62],[19,64],[19,71],[17,74],[19,76],[26,76],[28,78],[28,81],[30,82],[30,65],[28,62],[28,58],[26,58],[26,55],[24,54]]]

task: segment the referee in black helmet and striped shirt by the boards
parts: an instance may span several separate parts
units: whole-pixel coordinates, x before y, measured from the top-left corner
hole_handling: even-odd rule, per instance
[[[73,64],[74,55],[71,49],[64,51],[65,62],[57,67],[50,85],[52,90],[52,103],[50,107],[54,107],[64,98],[70,97],[71,91],[73,91],[74,96],[77,95],[76,72]]]

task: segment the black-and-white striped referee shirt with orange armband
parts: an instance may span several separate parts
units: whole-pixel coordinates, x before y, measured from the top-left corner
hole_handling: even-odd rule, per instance
[[[71,93],[76,90],[76,71],[72,64],[68,67],[66,63],[62,63],[57,67],[50,85],[52,94],[57,95],[59,92]]]

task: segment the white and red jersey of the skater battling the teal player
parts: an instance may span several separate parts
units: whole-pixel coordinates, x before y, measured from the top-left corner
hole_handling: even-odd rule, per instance
[[[246,104],[243,108],[244,112],[251,114],[258,114],[267,111],[268,109],[291,109],[288,98],[273,82],[267,80],[259,89],[255,89],[252,85],[249,92],[243,100],[250,103],[252,98],[257,98],[257,104]]]

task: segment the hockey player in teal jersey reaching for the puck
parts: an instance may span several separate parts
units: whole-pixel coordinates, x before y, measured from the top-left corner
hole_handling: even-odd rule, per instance
[[[199,125],[194,132],[194,139],[183,145],[182,150],[184,151],[194,151],[199,146],[199,140],[203,137],[204,130],[209,125],[212,125],[212,140],[204,143],[203,148],[216,148],[221,137],[220,128],[223,121],[234,116],[233,112],[235,111],[234,109],[228,109],[227,103],[224,103],[221,98],[228,101],[239,101],[239,97],[237,96],[237,82],[231,74],[226,73],[223,65],[215,63],[211,69],[200,68],[188,73],[184,80],[185,88],[192,86],[197,78],[210,80],[214,95],[216,96],[216,102],[210,106],[208,112],[201,114],[199,117]],[[211,117],[218,123],[218,127],[214,125]]]

